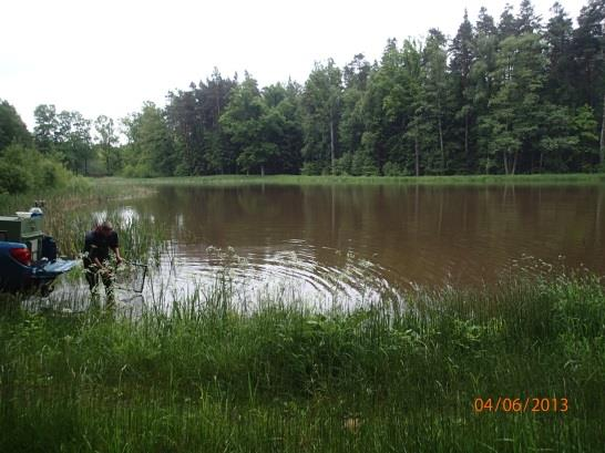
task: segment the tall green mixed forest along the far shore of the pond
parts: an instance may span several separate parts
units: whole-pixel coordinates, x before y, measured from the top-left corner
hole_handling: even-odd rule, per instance
[[[380,61],[317,62],[302,84],[262,87],[215,69],[125,119],[39,105],[33,133],[3,101],[0,174],[28,153],[47,158],[49,174],[61,163],[134,177],[603,171],[604,23],[603,0],[576,24],[558,2],[547,19],[530,0],[498,19],[481,8],[475,23],[464,11],[453,39],[438,29],[389,39]]]

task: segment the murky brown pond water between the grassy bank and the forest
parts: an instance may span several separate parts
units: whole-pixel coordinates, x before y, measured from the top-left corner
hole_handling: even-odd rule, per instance
[[[244,299],[321,302],[490,285],[534,258],[605,272],[605,186],[180,186],[122,209],[170,227],[152,280],[174,297],[226,265]]]

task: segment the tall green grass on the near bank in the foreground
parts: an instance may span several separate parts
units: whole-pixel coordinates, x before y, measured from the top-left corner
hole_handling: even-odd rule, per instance
[[[129,319],[0,311],[2,452],[602,452],[591,275],[317,313],[224,286]],[[548,398],[566,412],[473,409]]]

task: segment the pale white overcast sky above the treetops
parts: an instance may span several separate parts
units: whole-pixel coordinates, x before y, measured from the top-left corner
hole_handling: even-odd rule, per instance
[[[534,0],[550,18],[554,0]],[[560,0],[577,17],[587,0]],[[315,61],[340,66],[380,59],[388,38],[453,37],[464,8],[498,21],[505,0],[6,0],[0,6],[0,99],[33,130],[33,110],[54,104],[89,119],[164,105],[171,90],[247,70],[262,86],[304,83]],[[516,13],[519,2],[513,2]]]

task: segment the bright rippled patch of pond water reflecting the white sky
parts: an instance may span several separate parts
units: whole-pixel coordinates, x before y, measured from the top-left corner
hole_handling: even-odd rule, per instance
[[[161,257],[152,284],[155,292],[182,295],[209,287],[218,275],[226,275],[233,287],[250,299],[290,288],[296,297],[316,305],[359,305],[398,292],[387,278],[389,274],[350,249],[317,247],[299,239],[285,241],[281,248],[174,244]]]

